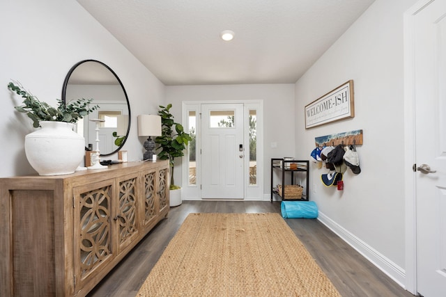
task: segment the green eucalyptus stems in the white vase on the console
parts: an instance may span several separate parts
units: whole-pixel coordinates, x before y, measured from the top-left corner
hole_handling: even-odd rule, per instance
[[[15,110],[26,113],[33,120],[35,128],[40,127],[40,121],[77,122],[99,108],[98,105],[90,106],[93,99],[84,98],[72,100],[68,104],[57,99],[58,106],[55,108],[46,102],[41,102],[16,81],[8,83],[8,88],[24,98],[23,105],[15,106]]]

